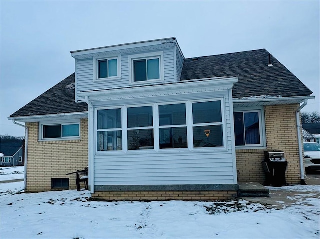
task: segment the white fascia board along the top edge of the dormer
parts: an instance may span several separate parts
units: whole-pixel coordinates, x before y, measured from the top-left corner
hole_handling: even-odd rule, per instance
[[[74,50],[74,51],[70,51],[70,53],[71,53],[72,57],[76,58],[76,56],[83,55],[83,54],[94,54],[94,53],[100,53],[100,52],[105,52],[105,51],[123,50],[123,49],[145,47],[145,46],[151,46],[151,45],[160,45],[162,43],[169,43],[169,41],[176,42],[175,37],[158,39],[158,40],[126,43],[126,44],[120,44],[120,45],[111,45],[111,46],[104,46],[104,47],[84,49],[84,50]]]

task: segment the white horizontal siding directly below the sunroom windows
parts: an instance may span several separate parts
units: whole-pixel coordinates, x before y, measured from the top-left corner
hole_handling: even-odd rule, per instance
[[[96,156],[95,185],[233,184],[227,153],[147,153]]]

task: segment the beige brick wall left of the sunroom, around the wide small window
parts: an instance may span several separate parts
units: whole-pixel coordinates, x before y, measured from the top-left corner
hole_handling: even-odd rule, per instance
[[[88,166],[88,120],[81,119],[80,140],[38,141],[38,123],[27,123],[28,155],[26,192],[50,191],[51,178],[70,178],[76,189],[75,175],[66,173]]]

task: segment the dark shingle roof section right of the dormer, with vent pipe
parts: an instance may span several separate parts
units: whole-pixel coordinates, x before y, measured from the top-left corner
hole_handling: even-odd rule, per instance
[[[184,60],[180,80],[210,77],[238,77],[233,97],[271,95],[306,96],[310,91],[284,65],[265,49],[188,58]]]

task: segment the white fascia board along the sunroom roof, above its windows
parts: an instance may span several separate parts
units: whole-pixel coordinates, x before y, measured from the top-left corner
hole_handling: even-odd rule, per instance
[[[78,93],[80,97],[88,96],[90,101],[110,99],[130,99],[160,95],[174,95],[195,92],[228,90],[238,81],[235,77],[217,77],[196,80],[177,81],[167,84],[122,87],[114,89],[88,90]]]

